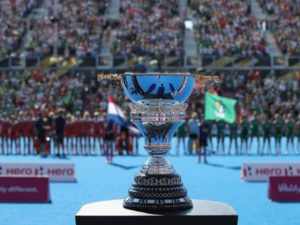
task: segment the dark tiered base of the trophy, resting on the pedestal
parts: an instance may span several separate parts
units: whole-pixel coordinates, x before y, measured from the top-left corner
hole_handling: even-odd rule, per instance
[[[193,204],[178,174],[139,173],[134,178],[123,206],[151,212],[186,210],[192,208]]]

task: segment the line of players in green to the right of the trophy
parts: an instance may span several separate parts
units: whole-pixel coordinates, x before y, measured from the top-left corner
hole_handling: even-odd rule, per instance
[[[187,131],[192,123],[193,121],[188,121]],[[216,154],[300,154],[300,115],[294,119],[292,114],[287,114],[284,120],[278,114],[274,116],[273,120],[269,118],[260,120],[255,116],[250,122],[247,117],[244,117],[240,123],[208,122],[208,127],[210,149]],[[213,141],[213,137],[216,138],[216,142]],[[229,138],[228,146],[225,146],[226,137]],[[285,146],[283,146],[284,137],[286,138]],[[271,143],[272,138],[274,145]],[[254,140],[257,144],[255,149],[252,148]],[[192,142],[193,140],[189,138],[189,143]],[[214,143],[217,143],[216,146]],[[193,145],[189,144],[188,146]],[[274,150],[272,150],[272,146],[274,146]],[[228,151],[226,151],[227,148]],[[285,152],[282,151],[283,149]],[[188,154],[193,153],[193,151],[189,147]]]

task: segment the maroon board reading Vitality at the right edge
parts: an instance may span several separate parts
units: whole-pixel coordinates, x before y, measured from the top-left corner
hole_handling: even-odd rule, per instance
[[[270,177],[269,199],[278,202],[300,202],[300,176]]]

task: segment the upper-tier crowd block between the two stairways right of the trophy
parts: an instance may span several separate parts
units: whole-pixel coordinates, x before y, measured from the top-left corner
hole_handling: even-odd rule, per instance
[[[190,0],[199,53],[204,56],[260,56],[264,32],[249,0]]]

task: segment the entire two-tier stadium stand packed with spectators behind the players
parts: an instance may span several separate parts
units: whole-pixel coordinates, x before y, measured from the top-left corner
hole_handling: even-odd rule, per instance
[[[110,0],[0,1],[1,121],[35,120],[61,108],[68,121],[104,116],[110,93],[128,112],[122,91],[97,81],[97,72],[199,67],[220,77],[205,90],[239,100],[238,122],[285,121],[291,115],[298,120],[299,1],[257,0],[265,21],[254,15],[250,0],[117,2],[112,7]],[[188,40],[197,43],[190,59],[186,20],[193,24]],[[280,56],[269,51],[266,30]],[[111,48],[101,55],[105,42]],[[203,116],[205,90],[193,92],[189,116],[194,111]]]

